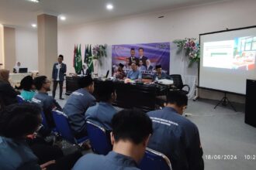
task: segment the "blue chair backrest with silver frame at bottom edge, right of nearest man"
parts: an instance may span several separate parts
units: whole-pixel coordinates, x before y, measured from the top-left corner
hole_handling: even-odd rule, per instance
[[[167,156],[158,151],[147,148],[144,158],[140,162],[141,170],[171,170],[171,162]]]

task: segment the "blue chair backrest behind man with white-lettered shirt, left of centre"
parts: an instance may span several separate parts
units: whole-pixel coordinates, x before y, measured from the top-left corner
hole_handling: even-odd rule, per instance
[[[67,115],[59,110],[52,110],[56,130],[61,134],[61,137],[69,141],[71,144],[77,144],[74,135],[71,131],[70,124],[67,119]]]

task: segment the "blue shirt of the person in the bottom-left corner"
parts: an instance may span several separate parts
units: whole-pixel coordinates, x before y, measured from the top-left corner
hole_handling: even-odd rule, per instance
[[[5,170],[41,170],[36,155],[25,141],[0,136],[0,169]]]

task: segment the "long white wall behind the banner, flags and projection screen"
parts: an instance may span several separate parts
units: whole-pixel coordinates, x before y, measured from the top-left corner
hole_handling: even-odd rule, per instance
[[[58,53],[64,54],[67,72],[74,72],[72,59],[75,43],[81,43],[82,52],[85,50],[85,43],[106,43],[109,45],[109,59],[102,68],[104,73],[111,68],[112,44],[172,42],[185,37],[199,38],[199,34],[205,32],[254,26],[255,6],[254,0],[225,1],[63,28],[58,32]],[[158,19],[159,15],[164,15],[164,18]],[[175,49],[171,50],[170,73],[197,75],[196,66],[187,69],[183,59],[186,60],[181,55],[176,55]],[[211,98],[208,93],[206,97]],[[243,100],[240,99],[242,102]]]

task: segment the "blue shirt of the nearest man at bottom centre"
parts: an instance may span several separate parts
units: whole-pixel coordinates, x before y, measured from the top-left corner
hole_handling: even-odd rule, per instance
[[[108,155],[88,154],[75,163],[73,170],[140,170],[137,163],[126,155],[110,151]]]

